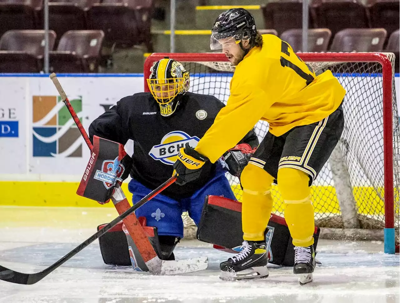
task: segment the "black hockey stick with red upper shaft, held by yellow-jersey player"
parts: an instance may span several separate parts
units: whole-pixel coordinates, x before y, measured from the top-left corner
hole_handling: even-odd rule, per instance
[[[69,260],[71,257],[76,255],[78,252],[83,250],[86,246],[88,246],[94,240],[100,238],[108,230],[110,230],[111,228],[116,226],[116,224],[118,224],[118,222],[120,222],[122,219],[124,219],[127,216],[129,216],[130,214],[132,214],[136,209],[138,209],[140,206],[142,206],[148,200],[150,200],[151,198],[156,196],[158,193],[162,192],[162,190],[164,190],[165,188],[170,186],[172,183],[174,183],[175,180],[176,180],[176,176],[172,176],[171,178],[166,180],[163,184],[161,184],[155,190],[150,192],[147,196],[142,198],[138,203],[136,203],[134,206],[129,208],[126,212],[124,212],[119,217],[112,220],[110,223],[108,223],[106,226],[104,226],[104,228],[102,228],[101,230],[96,232],[96,234],[94,234],[93,236],[88,238],[86,241],[82,242],[79,246],[74,248],[72,251],[70,251],[69,253],[64,255],[64,257],[62,257],[61,259],[56,261],[56,263],[50,265],[46,269],[44,269],[38,273],[20,273],[18,271],[14,271],[12,269],[8,269],[8,268],[0,265],[0,280],[17,283],[17,284],[34,284],[34,283],[40,281],[41,279],[46,277],[46,275],[48,275],[49,273],[54,271],[54,269],[56,269],[57,267],[59,267],[60,265],[65,263],[67,260]],[[119,192],[119,191],[122,192],[122,190],[120,188],[116,189],[116,192]],[[123,195],[123,193],[122,193],[122,195]],[[114,198],[114,196],[113,196],[113,198]],[[161,269],[158,273],[165,274],[168,272],[162,272],[162,269]]]

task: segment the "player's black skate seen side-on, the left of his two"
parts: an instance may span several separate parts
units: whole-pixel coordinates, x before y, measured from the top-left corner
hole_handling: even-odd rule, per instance
[[[268,277],[268,254],[264,241],[244,241],[242,251],[220,264],[222,280]]]

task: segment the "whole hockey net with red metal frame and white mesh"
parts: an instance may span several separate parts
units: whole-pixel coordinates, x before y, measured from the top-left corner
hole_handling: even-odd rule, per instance
[[[190,91],[214,95],[226,103],[234,66],[224,55],[153,54],[146,60],[145,77],[152,63],[167,55],[182,62],[189,71]],[[299,56],[317,75],[330,69],[347,91],[342,137],[311,188],[316,225],[325,228],[325,236],[330,234],[331,238],[372,240],[382,240],[384,228],[395,228],[399,243],[400,137],[394,55],[300,53]],[[268,123],[259,121],[255,130],[261,141]],[[241,200],[238,178],[230,174],[227,177],[236,198]],[[272,190],[273,212],[283,216],[282,197],[277,186]],[[195,236],[196,226],[187,215],[183,217],[186,236]]]

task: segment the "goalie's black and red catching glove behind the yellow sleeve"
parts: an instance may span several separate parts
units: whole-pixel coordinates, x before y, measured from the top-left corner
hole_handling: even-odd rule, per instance
[[[223,154],[221,157],[222,166],[232,176],[240,177],[244,166],[247,165],[256,149],[256,147],[252,149],[247,143],[240,143]]]

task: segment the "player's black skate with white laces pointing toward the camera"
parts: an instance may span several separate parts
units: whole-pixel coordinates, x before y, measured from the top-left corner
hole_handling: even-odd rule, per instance
[[[300,285],[304,285],[312,281],[312,273],[314,272],[314,268],[314,246],[295,246],[293,273],[298,275]]]

